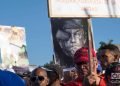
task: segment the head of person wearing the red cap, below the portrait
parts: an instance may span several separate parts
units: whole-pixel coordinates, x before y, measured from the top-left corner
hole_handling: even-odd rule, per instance
[[[94,50],[91,50],[92,57],[96,57]],[[78,74],[87,76],[90,72],[89,69],[89,54],[88,48],[82,47],[78,49],[74,55],[74,63],[78,70]]]

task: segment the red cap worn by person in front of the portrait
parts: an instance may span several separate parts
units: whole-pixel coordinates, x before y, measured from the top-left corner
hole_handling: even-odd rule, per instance
[[[92,49],[92,57],[96,57],[95,51]],[[88,54],[88,48],[82,47],[76,51],[74,54],[74,63],[80,63],[80,62],[89,62],[89,54]]]

